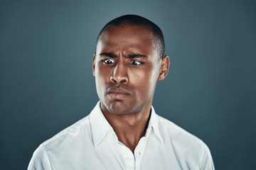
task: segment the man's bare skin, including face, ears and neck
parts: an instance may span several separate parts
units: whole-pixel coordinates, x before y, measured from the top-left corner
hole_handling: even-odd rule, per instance
[[[169,71],[169,57],[160,59],[153,43],[144,26],[108,26],[93,57],[102,113],[132,152],[146,133],[156,81]]]

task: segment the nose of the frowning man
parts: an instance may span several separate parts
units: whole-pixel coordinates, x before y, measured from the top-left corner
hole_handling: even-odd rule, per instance
[[[117,84],[127,84],[129,79],[127,75],[127,67],[125,64],[119,62],[117,65],[114,67],[113,73],[110,77],[110,81],[112,83],[117,83]]]

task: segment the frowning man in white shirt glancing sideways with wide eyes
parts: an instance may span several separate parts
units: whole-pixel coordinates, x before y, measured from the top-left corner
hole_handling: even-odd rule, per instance
[[[214,169],[208,147],[151,106],[169,64],[151,21],[126,15],[107,23],[92,65],[100,101],[43,142],[28,169]]]

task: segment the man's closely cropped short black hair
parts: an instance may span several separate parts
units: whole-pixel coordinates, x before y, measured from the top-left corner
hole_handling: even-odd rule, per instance
[[[137,16],[137,15],[124,15],[124,16],[119,16],[118,18],[114,18],[112,21],[107,23],[102,30],[100,31],[99,35],[97,36],[97,41],[96,41],[96,47],[97,47],[97,42],[100,38],[100,35],[102,34],[103,30],[105,30],[108,26],[144,26],[148,28],[149,30],[152,31],[154,35],[154,42],[153,45],[155,49],[159,53],[159,57],[162,58],[164,57],[164,50],[165,50],[165,45],[164,45],[164,35],[159,28],[159,26],[156,26],[155,23],[152,21],[149,21],[149,19],[146,19],[142,16]]]

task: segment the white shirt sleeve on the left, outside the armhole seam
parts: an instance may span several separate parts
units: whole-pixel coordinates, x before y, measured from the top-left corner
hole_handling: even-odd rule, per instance
[[[46,149],[43,145],[40,145],[35,152],[31,161],[28,164],[28,170],[50,170],[50,161],[48,159]]]

